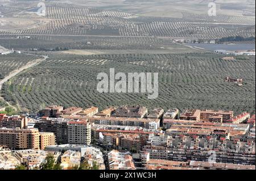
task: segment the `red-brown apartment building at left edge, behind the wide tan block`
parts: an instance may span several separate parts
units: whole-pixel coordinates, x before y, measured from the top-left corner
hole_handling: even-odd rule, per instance
[[[7,116],[0,114],[0,128],[27,129],[28,118],[25,116]]]

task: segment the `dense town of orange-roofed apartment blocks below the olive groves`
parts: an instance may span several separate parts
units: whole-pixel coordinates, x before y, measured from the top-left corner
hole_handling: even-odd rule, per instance
[[[0,147],[60,152],[64,169],[80,165],[82,159],[105,169],[100,150],[88,146],[92,141],[115,149],[108,155],[108,169],[136,169],[131,153],[141,155],[146,169],[251,169],[255,163],[255,115],[247,112],[234,116],[233,111],[185,110],[179,115],[175,108],[147,113],[142,106],[101,112],[97,107],[51,106],[40,113],[44,116],[34,128],[28,128],[27,117],[1,114]],[[216,164],[207,165],[212,151]],[[33,169],[43,161],[41,156],[20,162]],[[13,168],[11,161],[1,161]]]

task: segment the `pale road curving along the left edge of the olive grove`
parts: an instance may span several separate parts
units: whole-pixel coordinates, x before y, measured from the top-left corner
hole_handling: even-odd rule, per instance
[[[10,78],[13,78],[15,75],[17,75],[18,73],[22,72],[23,70],[26,70],[28,68],[31,68],[32,66],[35,66],[37,64],[39,64],[40,62],[46,60],[48,58],[48,56],[43,56],[43,58],[38,58],[34,61],[31,61],[29,62],[27,65],[23,66],[22,68],[19,68],[19,69],[16,69],[14,71],[11,71],[9,75],[7,75],[5,78],[3,78],[2,80],[0,80],[0,90],[2,90],[2,86],[5,82],[7,82]],[[0,99],[4,100],[1,96],[0,96]],[[9,102],[6,102],[9,106],[10,103]],[[16,108],[14,106],[11,106],[13,107],[15,110]]]

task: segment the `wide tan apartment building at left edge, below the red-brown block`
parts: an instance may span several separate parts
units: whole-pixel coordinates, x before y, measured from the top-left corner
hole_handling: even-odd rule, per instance
[[[39,131],[34,128],[0,128],[0,146],[10,149],[39,149]]]

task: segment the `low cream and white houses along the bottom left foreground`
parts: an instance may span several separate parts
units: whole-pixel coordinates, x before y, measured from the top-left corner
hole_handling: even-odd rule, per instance
[[[85,160],[89,166],[96,162],[98,169],[105,170],[104,158],[100,149],[86,145],[52,145],[45,150],[15,150],[0,148],[0,170],[14,170],[19,164],[23,164],[30,170],[37,170],[42,163],[46,163],[48,154],[53,155],[55,163],[60,163],[63,169],[72,169],[80,166]]]

